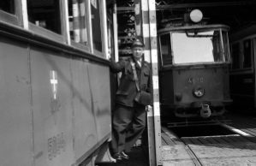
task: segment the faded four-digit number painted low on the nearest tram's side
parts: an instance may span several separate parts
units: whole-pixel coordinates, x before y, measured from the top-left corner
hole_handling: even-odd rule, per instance
[[[63,139],[63,133],[57,134],[48,139],[48,157],[52,160],[53,157],[61,154],[61,150],[65,151],[65,141]]]

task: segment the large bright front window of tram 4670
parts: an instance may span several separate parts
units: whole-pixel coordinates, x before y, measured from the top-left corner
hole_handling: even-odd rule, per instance
[[[222,62],[218,32],[172,33],[174,63]]]

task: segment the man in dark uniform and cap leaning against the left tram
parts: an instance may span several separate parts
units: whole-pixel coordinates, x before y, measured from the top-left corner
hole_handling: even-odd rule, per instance
[[[112,122],[112,157],[117,160],[128,159],[146,127],[146,110],[153,104],[152,68],[144,60],[144,44],[136,39],[131,48],[133,56],[110,61],[112,73],[122,72]]]

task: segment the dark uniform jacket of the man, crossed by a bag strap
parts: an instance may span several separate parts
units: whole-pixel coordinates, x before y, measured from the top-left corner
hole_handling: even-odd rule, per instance
[[[132,58],[132,57],[130,57]],[[135,61],[134,61],[135,62]],[[140,90],[149,92],[151,94],[151,104],[153,105],[153,87],[152,87],[152,69],[149,62],[141,61],[141,68],[135,64]],[[130,64],[130,59],[122,60],[120,62],[110,62],[110,71],[112,73],[122,72],[120,85],[116,92],[116,103],[127,105],[130,107],[142,106],[134,102],[137,92],[134,80],[133,68]]]

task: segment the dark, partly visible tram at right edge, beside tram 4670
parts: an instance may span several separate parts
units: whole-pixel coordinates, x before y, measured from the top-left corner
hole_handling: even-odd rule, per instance
[[[244,28],[229,35],[231,51],[230,95],[232,110],[239,108],[255,113],[256,108],[256,26]]]

